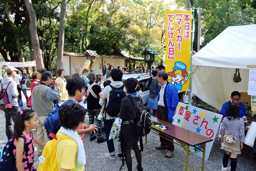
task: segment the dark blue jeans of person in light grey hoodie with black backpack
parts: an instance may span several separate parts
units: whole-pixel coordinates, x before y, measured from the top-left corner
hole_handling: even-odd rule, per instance
[[[108,145],[108,151],[110,155],[115,155],[116,151],[115,151],[115,146],[114,146],[114,141],[113,139],[108,140],[112,125],[114,123],[114,119],[108,119],[108,120],[104,120],[104,130],[105,130],[105,134],[106,134],[106,139],[107,139],[107,145]]]

